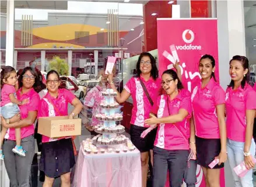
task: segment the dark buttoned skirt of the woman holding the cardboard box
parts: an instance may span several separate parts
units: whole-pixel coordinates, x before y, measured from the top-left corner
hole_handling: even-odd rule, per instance
[[[47,177],[57,178],[70,172],[74,165],[75,155],[71,138],[43,143],[39,170]]]

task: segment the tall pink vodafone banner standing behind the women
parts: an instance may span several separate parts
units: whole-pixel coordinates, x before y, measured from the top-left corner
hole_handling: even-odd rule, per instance
[[[189,91],[201,80],[198,65],[202,55],[215,58],[215,76],[219,80],[217,19],[157,19],[157,48],[159,75],[172,69],[175,59],[179,59],[183,85]],[[220,186],[225,187],[224,170],[220,175]],[[205,186],[202,168],[198,166],[196,187]]]

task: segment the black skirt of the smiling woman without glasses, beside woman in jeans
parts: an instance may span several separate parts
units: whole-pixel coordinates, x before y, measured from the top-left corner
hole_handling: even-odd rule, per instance
[[[220,139],[205,139],[195,136],[195,145],[197,146],[197,164],[210,168],[209,164],[215,159],[216,156],[219,156],[221,144]],[[223,168],[224,163],[217,164],[213,169]]]

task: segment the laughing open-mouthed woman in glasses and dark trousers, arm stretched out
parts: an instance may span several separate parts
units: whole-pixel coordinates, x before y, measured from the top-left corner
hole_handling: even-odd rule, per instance
[[[192,112],[191,95],[183,89],[174,70],[163,72],[162,87],[166,94],[157,98],[152,110],[157,117],[145,120],[146,125],[153,127],[160,124],[153,149],[153,187],[165,185],[167,170],[170,174],[170,186],[180,187],[190,149],[186,125]]]

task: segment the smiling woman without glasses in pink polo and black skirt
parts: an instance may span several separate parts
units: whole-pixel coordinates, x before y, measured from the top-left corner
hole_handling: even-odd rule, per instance
[[[215,79],[215,59],[204,55],[199,60],[202,81],[191,95],[193,117],[191,118],[190,146],[202,167],[207,186],[220,186],[220,168],[227,160],[225,92]],[[210,168],[213,160],[219,159]]]

